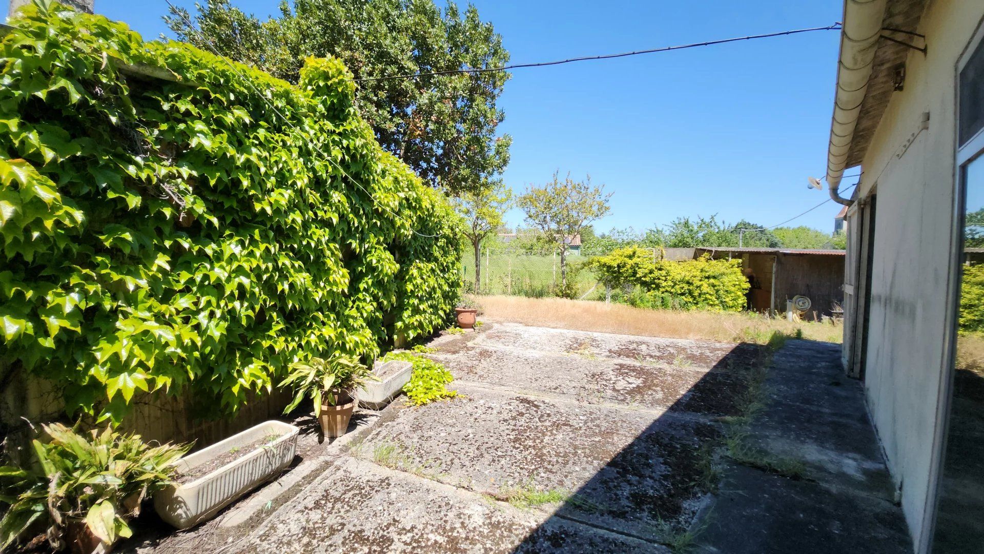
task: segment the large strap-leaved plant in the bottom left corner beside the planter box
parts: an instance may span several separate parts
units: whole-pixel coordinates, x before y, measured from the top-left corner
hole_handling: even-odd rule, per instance
[[[0,467],[0,502],[9,505],[0,520],[0,548],[40,523],[55,550],[65,545],[71,524],[85,524],[106,543],[130,536],[128,521],[141,502],[170,482],[175,462],[191,448],[151,446],[109,427],[86,433],[60,423],[42,428],[45,441],[31,442],[29,465]]]

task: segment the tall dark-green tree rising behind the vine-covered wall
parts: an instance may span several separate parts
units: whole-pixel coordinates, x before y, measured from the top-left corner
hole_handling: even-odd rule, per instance
[[[292,9],[291,9],[292,4]],[[339,58],[357,82],[356,103],[380,145],[431,186],[451,195],[477,190],[509,163],[505,117],[496,106],[506,72],[401,75],[499,67],[509,61],[502,37],[474,6],[433,0],[294,0],[279,18],[261,22],[229,0],[196,4],[188,28],[183,8],[164,21],[177,36],[205,50],[297,83],[304,58]]]

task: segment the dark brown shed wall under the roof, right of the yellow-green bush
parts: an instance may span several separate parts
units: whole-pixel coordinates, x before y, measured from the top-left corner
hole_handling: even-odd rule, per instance
[[[782,254],[775,263],[775,310],[785,312],[786,300],[802,294],[813,307],[804,319],[829,316],[833,303],[843,301],[844,257]]]

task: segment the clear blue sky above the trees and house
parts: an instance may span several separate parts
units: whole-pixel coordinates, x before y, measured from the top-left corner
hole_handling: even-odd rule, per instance
[[[175,1],[175,0],[172,0]],[[176,0],[191,6],[191,0]],[[277,0],[232,0],[261,18]],[[822,27],[841,2],[475,0],[515,63]],[[6,17],[7,2],[2,2]],[[145,38],[167,32],[163,0],[95,0],[95,11]],[[614,192],[599,230],[641,230],[678,215],[772,225],[811,208],[827,158],[836,31],[519,69],[500,99],[513,136],[504,177],[517,191],[555,169]],[[845,181],[852,182],[852,181]],[[839,206],[789,224],[826,232]],[[508,215],[511,224],[523,215]]]

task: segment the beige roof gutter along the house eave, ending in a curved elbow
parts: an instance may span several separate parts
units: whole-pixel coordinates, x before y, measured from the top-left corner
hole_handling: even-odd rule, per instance
[[[830,146],[827,152],[827,183],[830,199],[850,206],[852,202],[837,193],[844,175],[847,156],[854,141],[854,130],[861,103],[868,92],[878,39],[888,0],[844,0],[844,22],[840,30],[837,59],[837,88],[830,118]]]

